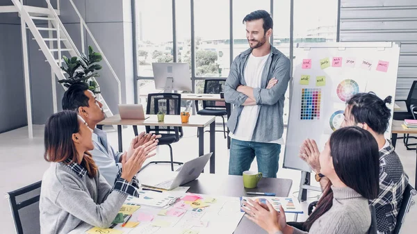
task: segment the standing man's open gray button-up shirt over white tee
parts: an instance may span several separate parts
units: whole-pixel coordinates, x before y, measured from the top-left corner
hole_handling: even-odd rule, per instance
[[[230,67],[229,76],[224,85],[224,99],[227,103],[235,105],[227,120],[227,126],[231,133],[234,133],[238,126],[240,113],[243,110],[243,103],[247,96],[236,91],[239,85],[246,85],[244,71],[247,59],[252,53],[252,49],[247,49],[237,56]],[[284,132],[284,101],[285,92],[290,81],[290,60],[275,47],[271,46],[270,56],[266,61],[261,78],[261,87],[254,88],[254,97],[258,108],[258,117],[253,142],[272,142],[282,137]],[[277,78],[278,82],[271,89],[267,89],[271,78]]]

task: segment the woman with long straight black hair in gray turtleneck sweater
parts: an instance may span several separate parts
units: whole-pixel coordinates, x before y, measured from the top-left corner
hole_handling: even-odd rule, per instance
[[[332,183],[305,222],[310,234],[365,234],[371,217],[368,199],[379,192],[379,153],[373,135],[359,127],[335,131],[320,153],[321,173]],[[252,206],[251,206],[252,205]],[[249,200],[247,218],[270,234],[307,233],[286,224],[283,208]]]

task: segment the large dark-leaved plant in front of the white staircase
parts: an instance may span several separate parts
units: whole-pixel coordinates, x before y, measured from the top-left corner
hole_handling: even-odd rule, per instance
[[[91,78],[99,77],[99,74],[95,71],[102,68],[101,65],[97,64],[102,59],[101,53],[93,51],[91,46],[88,47],[88,56],[85,56],[84,53],[81,54],[81,58],[63,56],[65,65],[60,68],[68,75],[68,78],[60,80],[58,83],[63,83],[65,87],[70,87],[72,84],[79,82],[88,83],[88,89],[95,94],[99,94],[99,86]]]

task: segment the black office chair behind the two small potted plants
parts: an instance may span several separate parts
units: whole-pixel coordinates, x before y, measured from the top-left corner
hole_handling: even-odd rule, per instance
[[[165,115],[179,115],[181,112],[181,94],[174,93],[157,93],[157,94],[148,94],[147,99],[147,115],[156,115],[158,112],[164,112]],[[136,126],[133,126],[135,135],[138,135]],[[144,169],[150,164],[158,163],[170,163],[171,170],[174,172],[174,164],[183,165],[183,162],[174,162],[172,156],[172,147],[171,144],[178,142],[183,137],[182,127],[163,127],[163,126],[145,126],[146,133],[155,133],[161,134],[162,137],[159,138],[158,145],[167,145],[170,147],[170,161],[152,161],[143,166],[140,170]]]

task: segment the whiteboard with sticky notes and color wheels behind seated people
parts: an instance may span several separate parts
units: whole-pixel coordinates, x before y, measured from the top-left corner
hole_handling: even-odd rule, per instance
[[[284,168],[311,172],[299,158],[304,139],[322,151],[343,121],[345,101],[357,92],[395,100],[400,47],[392,42],[300,43],[295,49]],[[309,76],[309,77],[308,77]],[[307,84],[308,83],[308,84]],[[391,135],[394,102],[386,138]]]

